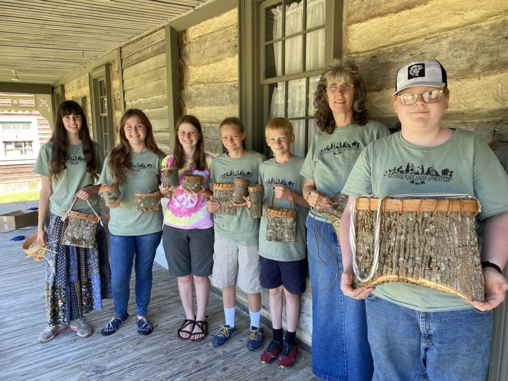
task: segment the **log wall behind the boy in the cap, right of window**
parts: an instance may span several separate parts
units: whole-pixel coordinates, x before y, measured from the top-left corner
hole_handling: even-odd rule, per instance
[[[358,63],[371,117],[400,128],[391,102],[397,70],[404,62],[435,58],[450,88],[443,126],[477,132],[506,168],[507,11],[504,0],[487,7],[474,0],[345,1],[344,57]]]

